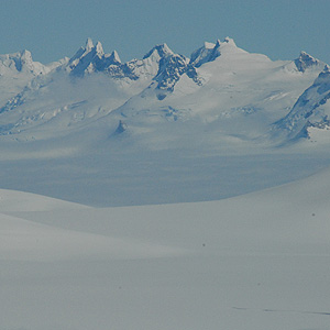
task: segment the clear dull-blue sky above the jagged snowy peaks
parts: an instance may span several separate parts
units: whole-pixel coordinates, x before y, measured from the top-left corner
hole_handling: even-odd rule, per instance
[[[29,50],[46,64],[91,37],[122,61],[161,43],[189,56],[230,36],[272,59],[305,51],[330,64],[329,12],[329,0],[0,0],[0,54]]]

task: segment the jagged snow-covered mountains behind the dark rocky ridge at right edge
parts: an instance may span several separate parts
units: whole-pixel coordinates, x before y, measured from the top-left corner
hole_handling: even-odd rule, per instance
[[[72,58],[48,66],[34,63],[29,52],[2,58],[3,81],[22,76],[19,86],[7,82],[3,89],[2,139],[61,138],[82,127],[96,136],[101,124],[108,125],[103,136],[125,131],[127,139],[152,148],[154,141],[166,148],[185,136],[210,145],[270,143],[264,136],[272,135],[272,124],[286,118],[326,65],[304,52],[273,62],[229,37],[205,43],[190,58],[161,44],[142,59],[121,63],[116,51],[106,54],[90,38]],[[185,124],[176,130],[173,122]],[[117,130],[120,124],[125,130]]]

